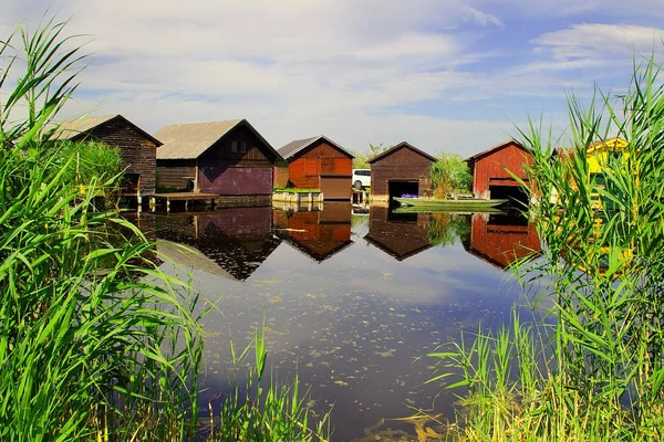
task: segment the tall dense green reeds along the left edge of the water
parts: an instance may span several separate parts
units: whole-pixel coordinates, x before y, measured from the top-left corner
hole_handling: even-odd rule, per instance
[[[135,227],[93,210],[118,176],[74,179],[76,157],[49,141],[83,59],[65,24],[0,43],[0,440],[181,440],[198,417],[196,297]]]

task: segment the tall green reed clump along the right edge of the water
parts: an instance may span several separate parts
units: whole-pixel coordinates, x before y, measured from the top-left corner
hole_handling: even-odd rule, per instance
[[[664,438],[664,88],[654,60],[634,64],[629,91],[598,92],[588,107],[569,98],[570,129],[520,130],[535,164],[527,211],[542,259],[525,287],[544,319],[515,316],[509,328],[430,356],[435,380],[465,387],[452,438],[661,440]],[[627,141],[591,173],[596,141]],[[557,147],[570,147],[562,155]],[[523,183],[525,185],[525,183]],[[551,305],[544,307],[544,305]]]

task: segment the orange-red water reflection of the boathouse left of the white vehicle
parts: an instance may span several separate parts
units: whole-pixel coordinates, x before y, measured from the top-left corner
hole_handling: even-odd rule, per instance
[[[322,262],[353,243],[351,204],[325,202],[323,210],[274,210],[277,236]]]

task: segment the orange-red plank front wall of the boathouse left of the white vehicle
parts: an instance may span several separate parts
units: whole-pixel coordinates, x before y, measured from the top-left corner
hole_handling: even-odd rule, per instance
[[[321,139],[289,161],[289,179],[294,188],[319,189],[321,176],[343,177],[347,180],[350,199],[352,164],[346,152]]]

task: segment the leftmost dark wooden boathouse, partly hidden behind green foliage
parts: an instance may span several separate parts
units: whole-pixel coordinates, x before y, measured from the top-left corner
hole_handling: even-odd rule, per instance
[[[122,115],[62,122],[55,129],[55,139],[74,143],[94,140],[120,148],[126,167],[123,196],[141,200],[142,196],[155,192],[156,151],[162,143]]]

